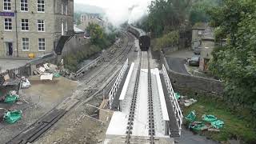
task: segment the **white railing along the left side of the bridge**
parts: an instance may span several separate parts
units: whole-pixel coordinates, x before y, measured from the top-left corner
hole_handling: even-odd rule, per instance
[[[114,86],[112,86],[112,88],[110,90],[110,94],[109,94],[110,109],[111,109],[114,97],[116,96],[116,94],[118,92],[118,87],[119,87],[120,83],[122,82],[123,75],[126,73],[127,68],[128,68],[128,58],[127,58],[126,62],[124,63],[124,65],[122,66],[122,70],[120,70],[120,72],[118,74],[118,78],[114,82]]]

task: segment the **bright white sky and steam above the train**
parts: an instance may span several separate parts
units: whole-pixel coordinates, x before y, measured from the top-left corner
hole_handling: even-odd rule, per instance
[[[74,0],[91,6],[99,6],[106,10],[106,17],[114,26],[119,26],[128,20],[129,23],[137,22],[147,14],[147,6],[151,0]],[[134,7],[132,10],[130,8]]]

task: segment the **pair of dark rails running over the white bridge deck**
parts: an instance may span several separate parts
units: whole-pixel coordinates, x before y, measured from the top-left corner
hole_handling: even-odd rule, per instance
[[[142,58],[143,57],[143,58]],[[145,58],[147,62],[145,61]],[[142,60],[144,59],[144,60]],[[130,104],[130,112],[129,112],[129,117],[128,117],[128,122],[127,122],[127,129],[126,129],[126,143],[130,144],[132,143],[130,138],[134,126],[134,117],[135,117],[135,109],[136,109],[136,102],[138,98],[138,85],[139,85],[139,78],[140,78],[140,71],[143,68],[148,69],[148,134],[150,136],[150,144],[154,144],[154,135],[155,135],[155,130],[154,130],[154,105],[153,105],[153,97],[152,97],[152,83],[151,83],[151,73],[150,73],[150,52],[144,52],[142,51],[140,53],[140,60],[138,64],[138,71],[136,75],[136,80],[135,80],[135,85],[134,85],[134,92]]]

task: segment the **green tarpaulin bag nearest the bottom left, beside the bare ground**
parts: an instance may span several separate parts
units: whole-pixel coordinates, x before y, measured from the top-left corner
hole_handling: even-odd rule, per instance
[[[22,110],[8,111],[4,114],[5,122],[13,124],[22,118]]]

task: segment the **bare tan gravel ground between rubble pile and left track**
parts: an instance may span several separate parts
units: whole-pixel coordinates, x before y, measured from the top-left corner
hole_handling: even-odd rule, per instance
[[[53,109],[59,102],[70,96],[77,85],[78,82],[62,77],[56,78],[55,82],[32,83],[29,89],[21,91],[19,102],[13,105],[0,103],[0,107],[23,112],[22,119],[13,125],[0,122],[0,143],[8,142],[43,114]]]

